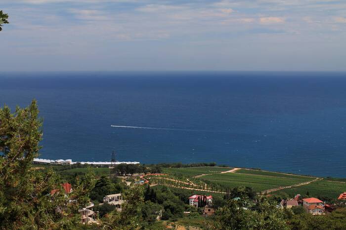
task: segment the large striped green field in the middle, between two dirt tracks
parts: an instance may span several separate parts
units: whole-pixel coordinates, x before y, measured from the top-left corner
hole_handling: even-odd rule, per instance
[[[306,181],[312,181],[314,178],[308,177],[274,177],[256,174],[241,174],[241,173],[224,173],[206,175],[200,179],[205,179],[207,184],[217,184],[222,188],[232,189],[238,186],[249,186],[255,191],[263,191],[274,189],[282,186],[290,186],[300,184]]]

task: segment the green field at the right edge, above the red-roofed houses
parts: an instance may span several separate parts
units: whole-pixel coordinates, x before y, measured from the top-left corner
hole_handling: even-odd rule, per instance
[[[316,181],[308,185],[276,191],[273,192],[273,194],[293,196],[296,194],[305,195],[306,192],[309,192],[309,196],[320,198],[328,197],[336,199],[338,198],[340,193],[346,192],[346,183],[327,181],[324,179],[322,181]]]

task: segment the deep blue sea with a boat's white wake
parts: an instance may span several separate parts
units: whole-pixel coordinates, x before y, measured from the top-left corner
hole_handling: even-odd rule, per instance
[[[346,177],[346,73],[0,74],[1,106],[33,98],[43,158],[109,161],[115,150],[121,161]]]

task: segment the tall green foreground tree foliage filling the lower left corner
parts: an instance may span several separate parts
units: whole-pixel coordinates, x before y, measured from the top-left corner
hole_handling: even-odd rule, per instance
[[[59,179],[53,170],[31,166],[39,154],[42,120],[34,100],[11,113],[0,109],[0,228],[72,229],[78,212],[60,191],[48,195]]]

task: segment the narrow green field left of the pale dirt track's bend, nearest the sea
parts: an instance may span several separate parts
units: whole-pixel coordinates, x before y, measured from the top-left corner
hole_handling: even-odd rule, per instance
[[[162,173],[194,177],[201,174],[213,174],[231,170],[232,168],[216,168],[216,167],[198,167],[198,168],[163,168]]]

